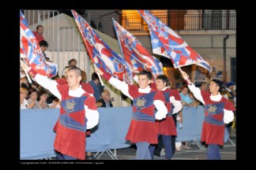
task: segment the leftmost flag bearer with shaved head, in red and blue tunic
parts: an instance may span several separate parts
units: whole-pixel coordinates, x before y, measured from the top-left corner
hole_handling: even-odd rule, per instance
[[[58,160],[85,160],[85,131],[98,124],[99,113],[95,98],[81,88],[81,70],[70,68],[67,72],[68,83],[58,85],[55,80],[37,74],[25,63],[21,67],[62,101],[58,124],[55,125],[54,148]],[[76,119],[72,119],[73,116]]]

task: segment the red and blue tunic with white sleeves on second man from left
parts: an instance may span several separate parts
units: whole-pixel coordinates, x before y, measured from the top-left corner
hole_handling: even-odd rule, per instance
[[[134,100],[133,105],[133,118],[130,122],[130,127],[126,135],[126,140],[130,142],[149,142],[152,144],[157,143],[157,129],[155,119],[163,119],[168,113],[168,109],[164,105],[164,95],[160,91],[156,91],[149,86],[145,89],[137,87],[137,85],[129,85],[111,77],[110,74],[104,73],[104,79],[107,79],[111,85],[122,91],[127,97]],[[147,94],[152,94],[150,99]],[[144,98],[145,96],[145,98]],[[137,98],[145,102],[145,106],[137,105]],[[145,100],[144,100],[144,99]],[[143,101],[144,100],[144,101]],[[147,103],[150,103],[147,105]],[[154,114],[154,109],[157,109]],[[156,118],[155,118],[156,117]]]

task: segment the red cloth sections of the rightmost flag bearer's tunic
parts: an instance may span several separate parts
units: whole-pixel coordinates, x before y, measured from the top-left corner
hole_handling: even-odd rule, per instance
[[[201,96],[205,101],[205,105],[209,104],[218,104],[224,103],[224,109],[227,110],[235,110],[235,106],[232,102],[228,101],[227,98],[222,97],[219,102],[212,101],[209,97],[210,94],[205,91],[201,91]],[[209,116],[209,113],[205,110],[205,116]],[[224,117],[224,110],[223,113],[217,114],[213,116],[216,120],[222,120]],[[216,125],[216,124],[209,124],[208,122],[204,121],[202,125],[201,131],[201,142],[205,142],[207,144],[214,144],[214,145],[224,145],[224,124],[223,125]]]

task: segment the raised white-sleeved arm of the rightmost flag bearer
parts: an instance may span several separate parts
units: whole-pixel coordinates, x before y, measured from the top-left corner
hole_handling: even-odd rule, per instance
[[[201,96],[201,90],[198,87],[195,87],[194,83],[190,82],[190,77],[186,74],[186,72],[183,72],[182,70],[180,70],[180,72],[181,75],[183,76],[183,79],[185,79],[186,81],[187,87],[189,87],[190,91],[194,94],[194,97],[205,105],[205,101]]]

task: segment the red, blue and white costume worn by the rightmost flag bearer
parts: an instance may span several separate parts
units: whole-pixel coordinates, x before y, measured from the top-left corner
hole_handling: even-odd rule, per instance
[[[201,142],[213,145],[224,145],[224,124],[234,119],[235,106],[220,93],[213,96],[209,92],[201,91],[190,80],[186,79],[190,91],[205,105],[205,121],[201,132]]]

